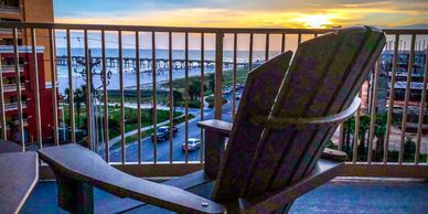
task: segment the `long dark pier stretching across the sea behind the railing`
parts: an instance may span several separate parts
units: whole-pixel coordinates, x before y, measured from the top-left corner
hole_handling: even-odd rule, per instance
[[[101,64],[103,57],[92,56],[93,64]],[[85,56],[72,56],[72,66],[85,65],[86,64]],[[137,66],[136,57],[122,57],[122,65],[126,68],[135,68]],[[56,64],[65,66],[68,64],[68,57],[66,55],[57,56]],[[157,68],[169,68],[170,60],[169,58],[156,58]],[[214,67],[215,61],[205,60],[203,62],[204,67]],[[140,68],[151,68],[152,58],[140,58]],[[199,68],[201,67],[202,62],[200,60],[189,60],[190,68]],[[224,62],[225,68],[233,67],[233,62]],[[106,67],[118,67],[119,66],[119,57],[106,57]],[[238,67],[248,67],[248,63],[237,63]],[[174,69],[181,69],[185,67],[184,60],[172,60],[172,67]]]

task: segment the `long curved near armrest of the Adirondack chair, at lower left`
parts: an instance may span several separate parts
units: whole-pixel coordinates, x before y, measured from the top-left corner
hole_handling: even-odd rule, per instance
[[[65,190],[60,190],[60,192],[74,193],[73,189],[76,185],[71,185],[71,183],[83,183],[120,197],[130,197],[179,213],[224,213],[226,211],[223,205],[182,189],[121,172],[106,163],[98,154],[78,145],[50,147],[40,150],[39,153],[41,159],[51,165],[57,181],[63,182],[58,183],[58,186]],[[68,195],[60,196],[69,197]],[[85,195],[85,199],[87,196],[93,195]],[[73,203],[76,199],[60,199],[58,201]],[[78,205],[82,206],[82,204]],[[67,207],[67,204],[65,206]]]

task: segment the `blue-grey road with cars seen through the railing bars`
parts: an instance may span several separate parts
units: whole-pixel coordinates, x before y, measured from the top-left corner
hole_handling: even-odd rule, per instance
[[[226,96],[225,98],[229,101],[223,105],[223,116],[222,120],[232,121],[232,95]],[[238,105],[236,101],[236,106]],[[197,127],[197,122],[201,119],[201,115],[197,110],[191,110],[195,118],[189,120],[189,138],[201,138],[201,129]],[[208,109],[204,113],[204,119],[213,119],[214,109]],[[172,141],[172,160],[173,161],[184,161],[185,152],[182,149],[182,143],[185,142],[185,126],[184,122],[176,126],[179,131],[178,135],[173,138]],[[141,160],[142,161],[153,161],[153,149],[154,143],[150,137],[146,137],[141,140]],[[128,143],[126,147],[126,162],[137,162],[138,161],[138,141]],[[157,160],[158,161],[170,161],[170,140],[158,142],[157,147]],[[201,149],[195,151],[188,152],[189,161],[199,161],[201,160]],[[121,148],[110,151],[110,161],[120,162],[121,161]]]

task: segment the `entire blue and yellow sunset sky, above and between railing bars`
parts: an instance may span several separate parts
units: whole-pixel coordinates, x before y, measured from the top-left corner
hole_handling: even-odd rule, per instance
[[[54,0],[57,23],[127,24],[214,28],[428,28],[428,0]],[[57,33],[57,46],[66,46]],[[82,32],[72,32],[72,45],[83,45]],[[168,34],[157,33],[157,49],[168,49]],[[190,49],[200,49],[200,34],[190,34]],[[227,38],[228,36],[228,38]],[[248,50],[248,35],[238,35],[238,51]],[[254,50],[265,50],[266,35],[255,34]],[[297,35],[287,35],[286,50],[295,50]],[[117,49],[117,32],[106,33],[107,47]],[[310,38],[303,36],[302,40]],[[100,34],[89,32],[89,46],[100,46]],[[408,41],[409,38],[400,38]],[[425,43],[427,38],[417,38]],[[135,34],[124,32],[124,49],[135,47]],[[417,42],[418,42],[417,41]],[[226,35],[225,50],[233,50]],[[270,35],[272,51],[280,35]],[[409,43],[409,42],[407,42]],[[151,49],[151,34],[140,32],[140,47]],[[215,38],[205,35],[205,49],[214,50]],[[407,44],[406,49],[409,47]],[[184,49],[184,34],[173,34],[173,49]]]

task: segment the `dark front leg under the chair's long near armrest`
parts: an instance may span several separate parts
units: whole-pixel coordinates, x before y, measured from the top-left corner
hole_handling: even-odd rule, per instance
[[[58,185],[58,205],[69,213],[94,213],[94,189],[92,185],[71,179],[54,170]]]

